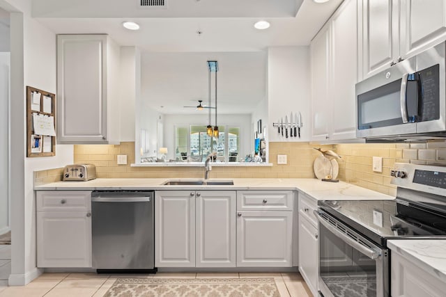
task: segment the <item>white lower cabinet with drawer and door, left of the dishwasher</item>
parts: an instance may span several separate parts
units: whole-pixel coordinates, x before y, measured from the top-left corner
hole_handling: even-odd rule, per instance
[[[37,266],[91,267],[91,191],[37,191]]]

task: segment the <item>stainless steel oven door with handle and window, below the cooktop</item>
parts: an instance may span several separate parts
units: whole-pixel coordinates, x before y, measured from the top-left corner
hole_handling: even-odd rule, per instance
[[[325,211],[319,221],[319,290],[324,297],[389,296],[389,256]]]

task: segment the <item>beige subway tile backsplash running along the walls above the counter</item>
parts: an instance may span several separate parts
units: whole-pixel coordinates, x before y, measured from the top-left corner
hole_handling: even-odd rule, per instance
[[[390,169],[395,162],[446,166],[446,142],[411,144],[338,144],[270,143],[268,167],[218,167],[210,177],[215,178],[314,178],[313,162],[320,154],[313,147],[334,150],[341,156],[338,178],[380,193],[396,195],[390,184]],[[117,165],[116,156],[127,155],[127,165]],[[277,165],[277,154],[286,154],[288,163]],[[383,172],[372,170],[372,156],[383,158]],[[134,143],[120,145],[75,145],[75,163],[93,163],[98,177],[167,177],[200,178],[203,167],[131,167],[134,163]],[[34,172],[35,184],[61,180],[62,169]]]

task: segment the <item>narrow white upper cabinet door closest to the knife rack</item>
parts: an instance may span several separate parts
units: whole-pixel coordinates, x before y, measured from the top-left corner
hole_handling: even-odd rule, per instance
[[[328,140],[331,104],[328,100],[330,27],[325,26],[310,45],[312,63],[312,140]]]

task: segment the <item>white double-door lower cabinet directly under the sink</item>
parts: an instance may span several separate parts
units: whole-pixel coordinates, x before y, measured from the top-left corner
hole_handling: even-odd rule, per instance
[[[235,191],[155,191],[156,267],[235,267]]]

